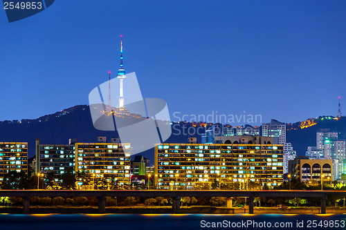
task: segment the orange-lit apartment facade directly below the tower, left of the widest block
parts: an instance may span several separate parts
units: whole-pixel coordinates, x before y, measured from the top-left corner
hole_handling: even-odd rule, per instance
[[[75,143],[75,172],[130,183],[130,151],[130,144]]]

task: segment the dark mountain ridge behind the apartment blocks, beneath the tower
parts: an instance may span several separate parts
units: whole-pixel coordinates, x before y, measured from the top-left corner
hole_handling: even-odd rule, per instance
[[[287,124],[286,141],[293,144],[298,155],[304,155],[307,146],[316,146],[316,131],[330,128],[338,131],[340,139],[346,139],[346,119],[341,117],[318,117],[304,122]],[[185,143],[188,137],[197,137],[201,143],[201,133],[212,124],[204,122],[172,122],[172,135],[166,142]],[[68,144],[69,138],[78,142],[96,142],[97,137],[105,136],[107,140],[117,137],[116,131],[98,131],[93,127],[89,106],[73,106],[63,111],[45,115],[37,119],[0,122],[1,142],[28,142],[29,157],[35,155],[35,140],[42,144]],[[143,133],[145,138],[145,133]],[[154,149],[140,153],[154,162]]]

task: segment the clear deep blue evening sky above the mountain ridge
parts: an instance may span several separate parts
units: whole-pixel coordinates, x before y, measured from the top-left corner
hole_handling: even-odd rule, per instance
[[[338,96],[346,104],[345,9],[346,1],[73,0],[13,23],[0,10],[0,120],[88,104],[118,70],[120,35],[125,70],[171,114],[336,115]]]

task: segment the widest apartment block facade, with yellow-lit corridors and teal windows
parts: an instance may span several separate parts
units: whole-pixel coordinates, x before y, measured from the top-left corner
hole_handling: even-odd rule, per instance
[[[184,189],[249,180],[261,186],[283,182],[283,146],[273,144],[156,144],[155,185]]]

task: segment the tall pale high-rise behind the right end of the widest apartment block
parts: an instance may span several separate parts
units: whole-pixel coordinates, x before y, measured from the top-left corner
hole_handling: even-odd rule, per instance
[[[274,144],[286,143],[286,124],[271,119],[270,123],[262,125],[262,135],[264,137],[273,137]]]

